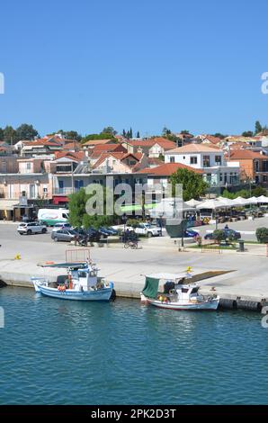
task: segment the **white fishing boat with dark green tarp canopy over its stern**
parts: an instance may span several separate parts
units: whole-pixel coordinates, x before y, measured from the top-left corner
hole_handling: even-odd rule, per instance
[[[153,274],[146,276],[141,301],[172,310],[217,310],[219,296],[201,295],[200,286],[191,283],[191,277],[175,274]]]

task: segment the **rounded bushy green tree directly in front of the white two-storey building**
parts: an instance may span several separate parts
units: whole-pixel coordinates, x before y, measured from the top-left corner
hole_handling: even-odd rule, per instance
[[[175,184],[183,184],[183,201],[187,202],[192,198],[199,198],[206,193],[209,184],[207,184],[200,174],[188,169],[178,169],[170,176],[173,186],[173,195],[175,193]]]

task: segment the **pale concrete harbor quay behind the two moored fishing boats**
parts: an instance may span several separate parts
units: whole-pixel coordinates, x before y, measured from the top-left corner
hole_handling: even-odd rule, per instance
[[[251,236],[249,232],[254,237],[255,231],[246,229],[245,225],[247,237]],[[202,230],[210,230],[210,227]],[[0,281],[12,286],[33,288],[32,276],[46,276],[52,280],[61,275],[62,270],[44,269],[38,264],[62,262],[70,249],[83,250],[64,242],[55,243],[49,233],[19,236],[13,224],[0,225],[0,238]],[[222,250],[219,254],[191,248],[189,240],[185,240],[182,249],[180,239],[166,236],[145,238],[139,244],[137,250],[125,249],[121,243],[89,247],[90,257],[100,268],[100,275],[114,284],[118,297],[139,299],[145,275],[156,272],[183,274],[191,266],[193,280],[201,284],[201,293],[210,293],[212,289],[219,294],[220,305],[224,308],[260,311],[268,303],[268,257],[264,245],[246,244],[244,253]]]

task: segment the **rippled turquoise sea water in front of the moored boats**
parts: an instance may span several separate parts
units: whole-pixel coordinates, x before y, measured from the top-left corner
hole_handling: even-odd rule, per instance
[[[0,404],[265,404],[253,312],[165,311],[0,290]]]

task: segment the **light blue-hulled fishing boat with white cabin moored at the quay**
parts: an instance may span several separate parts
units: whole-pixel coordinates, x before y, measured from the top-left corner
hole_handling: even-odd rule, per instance
[[[106,283],[103,278],[98,277],[99,269],[92,261],[39,266],[65,269],[67,275],[59,275],[54,282],[45,277],[31,277],[36,293],[61,300],[83,302],[108,302],[114,297],[112,282]]]

